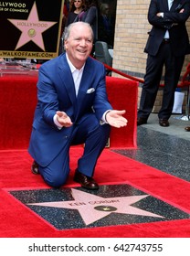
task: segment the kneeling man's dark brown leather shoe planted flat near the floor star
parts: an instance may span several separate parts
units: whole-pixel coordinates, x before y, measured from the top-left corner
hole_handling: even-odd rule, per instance
[[[95,180],[90,176],[85,176],[81,174],[78,170],[75,172],[74,181],[78,182],[81,187],[85,187],[90,190],[99,189],[99,185],[95,182]]]

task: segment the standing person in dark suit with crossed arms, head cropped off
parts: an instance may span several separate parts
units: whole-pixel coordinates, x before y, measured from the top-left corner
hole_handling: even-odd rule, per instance
[[[148,57],[137,125],[147,123],[164,69],[164,95],[158,118],[161,126],[169,126],[174,91],[183,68],[185,54],[189,53],[189,38],[185,27],[189,16],[189,0],[151,0],[148,21],[153,27],[144,49]]]

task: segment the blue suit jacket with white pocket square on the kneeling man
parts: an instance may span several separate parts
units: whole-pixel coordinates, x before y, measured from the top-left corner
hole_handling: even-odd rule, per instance
[[[100,120],[112,109],[105,85],[105,69],[95,59],[87,59],[76,97],[66,55],[45,62],[39,69],[37,81],[37,108],[28,152],[39,165],[48,165],[68,144],[76,124],[86,113],[95,112]],[[73,126],[61,130],[53,122],[57,111],[67,112]]]

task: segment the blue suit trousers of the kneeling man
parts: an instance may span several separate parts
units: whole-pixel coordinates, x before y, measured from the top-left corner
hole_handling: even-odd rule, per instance
[[[61,187],[69,176],[69,148],[84,144],[83,155],[78,161],[78,170],[86,176],[93,176],[97,160],[108,142],[111,126],[100,124],[94,113],[86,114],[82,122],[74,123],[68,143],[47,166],[39,165],[39,173],[50,187]],[[61,143],[61,141],[60,141]]]

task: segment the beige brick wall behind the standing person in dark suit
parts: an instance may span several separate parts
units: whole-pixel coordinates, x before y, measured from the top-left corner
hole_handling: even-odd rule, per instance
[[[117,1],[113,68],[139,78],[143,78],[145,71],[147,55],[143,48],[151,28],[147,21],[149,3],[150,0]],[[190,18],[186,25],[190,37]],[[184,69],[187,62],[190,55],[185,58]]]

